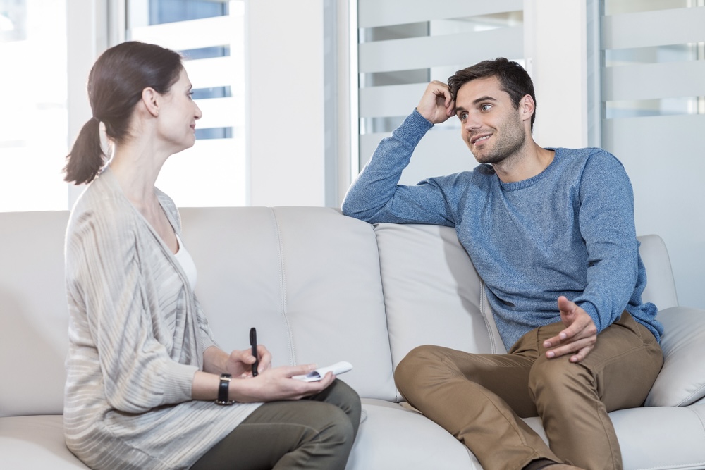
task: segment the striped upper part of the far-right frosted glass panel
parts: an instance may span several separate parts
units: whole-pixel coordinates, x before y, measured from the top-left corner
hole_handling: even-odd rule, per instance
[[[705,1],[605,1],[604,118],[704,112]]]

